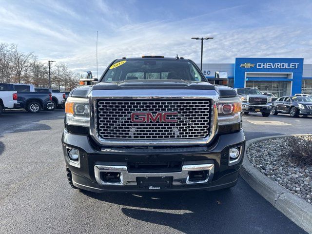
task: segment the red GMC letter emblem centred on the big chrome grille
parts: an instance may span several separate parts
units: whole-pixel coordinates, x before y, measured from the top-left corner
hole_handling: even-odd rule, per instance
[[[176,123],[177,119],[169,119],[177,117],[177,112],[158,112],[153,115],[151,112],[134,112],[131,114],[131,122],[134,123]]]

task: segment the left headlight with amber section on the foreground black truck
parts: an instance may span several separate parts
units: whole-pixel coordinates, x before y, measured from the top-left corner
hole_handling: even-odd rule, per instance
[[[89,126],[90,106],[86,98],[69,97],[65,103],[65,118],[69,125]]]

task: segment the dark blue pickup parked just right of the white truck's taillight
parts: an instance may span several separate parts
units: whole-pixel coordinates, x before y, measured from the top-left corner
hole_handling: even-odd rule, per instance
[[[10,90],[16,90],[14,84],[9,84]],[[52,94],[49,92],[18,91],[18,103],[30,113],[38,113],[52,105]]]

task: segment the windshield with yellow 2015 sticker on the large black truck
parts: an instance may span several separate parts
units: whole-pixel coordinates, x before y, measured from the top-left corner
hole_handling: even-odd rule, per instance
[[[137,59],[116,61],[102,81],[183,79],[205,81],[188,60]]]

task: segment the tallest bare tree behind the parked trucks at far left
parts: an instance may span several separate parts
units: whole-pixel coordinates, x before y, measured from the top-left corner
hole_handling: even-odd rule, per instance
[[[29,67],[30,60],[33,59],[32,52],[23,54],[18,50],[16,44],[12,44],[9,50],[10,63],[14,77],[20,83],[22,81],[22,74]]]

